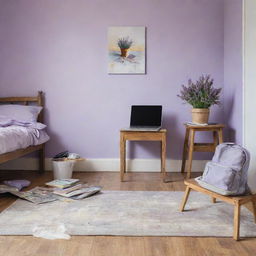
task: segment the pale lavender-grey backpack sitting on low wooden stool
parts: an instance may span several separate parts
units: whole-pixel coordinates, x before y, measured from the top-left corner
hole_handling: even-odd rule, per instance
[[[216,147],[212,161],[206,164],[203,176],[196,181],[222,195],[249,193],[249,162],[250,154],[245,148],[234,143],[222,143]]]

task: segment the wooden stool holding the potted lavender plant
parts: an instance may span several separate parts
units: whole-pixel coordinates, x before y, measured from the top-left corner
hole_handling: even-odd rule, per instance
[[[189,125],[184,124],[186,127],[183,155],[182,155],[182,165],[181,172],[185,171],[186,159],[188,155],[188,165],[187,165],[187,179],[191,176],[191,167],[193,152],[214,152],[218,144],[223,143],[223,128],[224,124],[211,124],[211,125]],[[195,133],[207,131],[213,133],[213,143],[195,143]]]

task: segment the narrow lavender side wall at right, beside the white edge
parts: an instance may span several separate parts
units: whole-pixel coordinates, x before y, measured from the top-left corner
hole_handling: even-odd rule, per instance
[[[224,111],[226,138],[242,144],[243,126],[243,3],[224,2]]]

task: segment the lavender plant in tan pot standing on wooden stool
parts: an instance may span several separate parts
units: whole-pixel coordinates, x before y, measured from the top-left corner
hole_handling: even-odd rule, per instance
[[[209,108],[220,104],[220,92],[221,88],[213,87],[210,75],[202,75],[195,83],[189,79],[187,87],[182,85],[178,97],[192,105],[192,122],[203,124],[208,123]]]

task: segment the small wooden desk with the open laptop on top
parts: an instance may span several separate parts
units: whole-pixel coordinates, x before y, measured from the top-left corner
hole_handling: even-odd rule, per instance
[[[126,141],[160,141],[161,142],[161,173],[163,180],[166,176],[166,129],[161,129],[156,132],[149,131],[120,131],[120,180],[124,180],[126,172]]]

